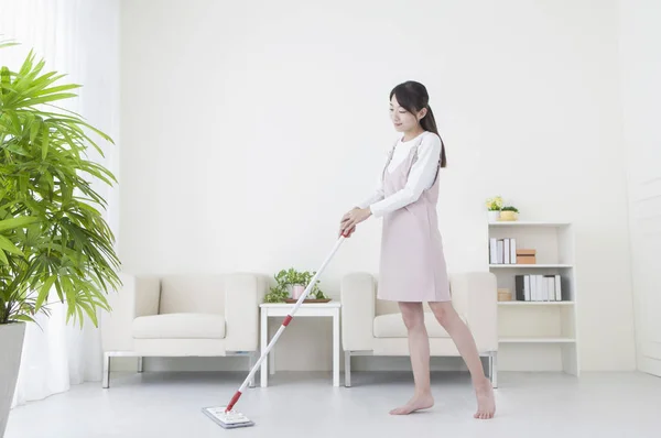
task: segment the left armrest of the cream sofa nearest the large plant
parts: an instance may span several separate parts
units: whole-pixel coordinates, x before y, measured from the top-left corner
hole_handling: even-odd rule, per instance
[[[156,315],[161,298],[161,281],[120,274],[122,287],[108,294],[110,311],[101,314],[101,344],[104,351],[132,351],[133,319]]]

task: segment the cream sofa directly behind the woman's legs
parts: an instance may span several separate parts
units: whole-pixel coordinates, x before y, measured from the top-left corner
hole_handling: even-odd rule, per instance
[[[489,360],[488,375],[497,386],[498,298],[496,276],[489,272],[452,274],[452,302],[475,338],[478,352]],[[397,303],[377,299],[377,278],[351,273],[342,281],[342,343],[345,386],[351,385],[351,357],[410,355],[407,327]],[[427,304],[424,320],[432,357],[457,357],[459,352]]]

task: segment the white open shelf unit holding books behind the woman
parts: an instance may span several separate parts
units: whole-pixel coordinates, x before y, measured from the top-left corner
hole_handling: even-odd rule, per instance
[[[578,375],[574,229],[568,222],[488,222],[486,264],[512,302],[498,303],[498,363],[503,371],[560,371]],[[495,264],[490,239],[516,239],[517,249],[537,250],[535,264]],[[514,276],[560,275],[561,302],[516,300]]]

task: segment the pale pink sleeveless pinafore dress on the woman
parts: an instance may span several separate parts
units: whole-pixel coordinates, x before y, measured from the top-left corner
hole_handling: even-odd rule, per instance
[[[409,156],[392,172],[383,168],[383,195],[388,197],[407,185],[411,166],[418,157],[418,144]],[[378,298],[393,302],[447,302],[449,282],[438,231],[436,204],[438,200],[438,169],[432,187],[405,207],[383,216]]]

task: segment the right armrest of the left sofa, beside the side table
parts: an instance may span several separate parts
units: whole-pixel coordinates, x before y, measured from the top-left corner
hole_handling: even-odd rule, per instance
[[[267,294],[267,281],[250,273],[228,274],[225,278],[225,322],[227,351],[257,351],[259,305]]]

